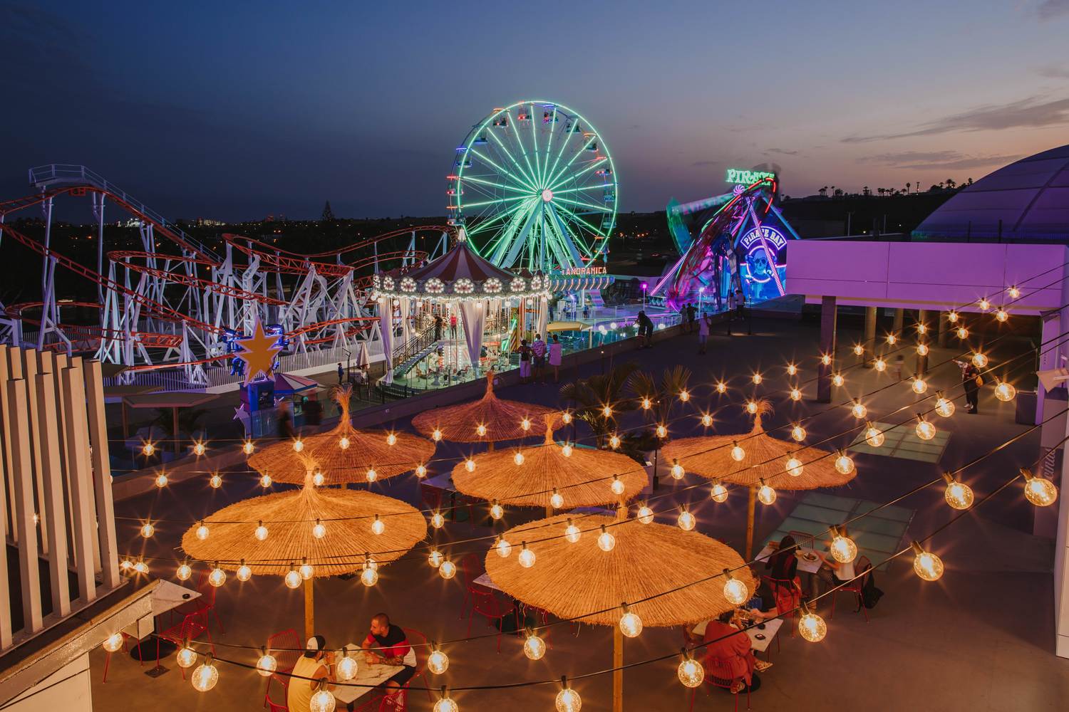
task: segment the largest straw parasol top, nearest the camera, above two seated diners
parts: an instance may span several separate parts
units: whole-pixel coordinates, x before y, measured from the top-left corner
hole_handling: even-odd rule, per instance
[[[757,582],[742,557],[732,549],[697,532],[676,526],[642,524],[638,520],[617,523],[609,517],[584,517],[576,520],[583,534],[572,543],[560,535],[567,516],[530,522],[506,532],[512,544],[507,558],[491,550],[486,573],[494,585],[509,596],[560,618],[586,613],[583,622],[616,626],[622,615],[621,603],[638,614],[644,626],[683,626],[715,618],[734,606],[724,597],[724,576],[687,586],[649,601],[642,599],[711,576],[723,569],[743,581],[753,592]],[[616,547],[608,552],[598,545],[604,525]],[[534,552],[534,566],[525,569],[517,560],[521,542]],[[634,603],[635,601],[642,601]]]

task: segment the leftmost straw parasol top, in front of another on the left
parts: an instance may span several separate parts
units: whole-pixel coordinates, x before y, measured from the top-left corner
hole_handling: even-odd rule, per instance
[[[371,531],[375,515],[385,525],[378,535]],[[322,539],[312,534],[316,519],[326,527]],[[267,527],[263,541],[253,535],[261,521]],[[316,576],[347,573],[361,568],[367,553],[375,563],[388,564],[427,536],[423,516],[404,502],[365,490],[311,486],[237,502],[203,523],[206,539],[197,538],[199,523],[182,537],[189,556],[219,561],[231,571],[244,558],[255,574],[283,575],[291,563],[300,566],[306,557]]]

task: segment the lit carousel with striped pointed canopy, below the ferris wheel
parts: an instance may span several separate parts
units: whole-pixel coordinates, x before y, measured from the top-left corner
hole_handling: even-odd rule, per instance
[[[548,278],[495,267],[460,228],[456,244],[437,259],[374,275],[383,382],[435,389],[511,367],[512,345],[545,335],[549,296]]]

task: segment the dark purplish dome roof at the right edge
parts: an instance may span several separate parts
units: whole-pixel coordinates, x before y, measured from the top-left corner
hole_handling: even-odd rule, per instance
[[[1069,242],[1069,145],[1022,158],[962,189],[913,237]]]

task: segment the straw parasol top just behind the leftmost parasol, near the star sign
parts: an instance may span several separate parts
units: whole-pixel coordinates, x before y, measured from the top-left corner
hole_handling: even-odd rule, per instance
[[[299,485],[307,470],[323,474],[324,485],[385,479],[415,470],[434,455],[434,443],[409,432],[358,430],[348,417],[350,386],[335,391],[341,408],[338,425],[328,432],[307,436],[299,452],[294,442],[268,445],[249,457],[258,472],[279,482]]]

